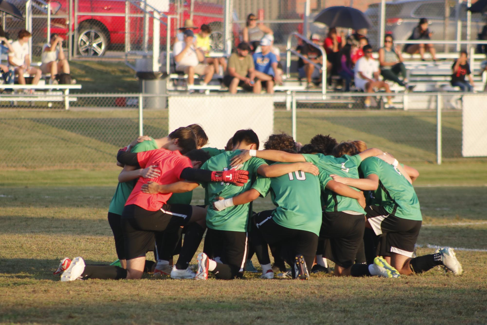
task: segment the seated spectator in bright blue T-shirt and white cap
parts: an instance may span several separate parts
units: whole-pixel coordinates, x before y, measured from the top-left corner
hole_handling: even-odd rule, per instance
[[[262,38],[262,52],[254,53],[253,55],[255,76],[257,77],[255,83],[261,84],[262,81],[265,81],[268,94],[274,94],[274,81],[278,84],[282,82],[277,67],[276,55],[271,52],[271,44],[272,42],[269,38]]]

